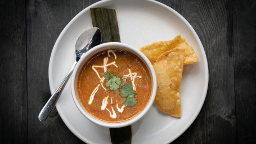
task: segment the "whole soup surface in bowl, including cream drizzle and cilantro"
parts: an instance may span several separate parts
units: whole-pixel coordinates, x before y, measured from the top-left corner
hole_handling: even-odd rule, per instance
[[[77,80],[84,109],[105,122],[124,122],[139,114],[151,91],[149,70],[124,50],[97,53],[84,64]]]

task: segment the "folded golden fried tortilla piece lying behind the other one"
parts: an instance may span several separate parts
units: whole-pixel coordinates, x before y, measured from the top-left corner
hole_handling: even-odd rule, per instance
[[[147,46],[143,46],[140,50],[147,56],[151,64],[154,64],[161,54],[175,48],[185,50],[184,65],[194,64],[197,61],[198,57],[196,56],[194,49],[188,45],[186,39],[182,38],[181,35],[177,35],[177,37],[169,41],[151,43]]]

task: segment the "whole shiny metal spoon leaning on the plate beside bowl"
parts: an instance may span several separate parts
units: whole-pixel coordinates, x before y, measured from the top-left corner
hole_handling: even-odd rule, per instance
[[[91,28],[86,31],[84,31],[80,37],[77,40],[77,43],[75,43],[75,54],[77,55],[77,59],[74,62],[72,68],[70,69],[69,73],[66,75],[64,80],[61,82],[60,86],[56,89],[56,91],[53,93],[53,95],[50,97],[46,105],[44,105],[43,109],[41,110],[38,119],[43,122],[48,118],[50,115],[53,107],[55,106],[57,100],[60,97],[60,94],[64,87],[66,86],[66,83],[68,82],[75,65],[77,65],[77,62],[80,60],[80,57],[89,51],[91,48],[97,46],[98,44],[101,44],[101,31],[98,28]]]

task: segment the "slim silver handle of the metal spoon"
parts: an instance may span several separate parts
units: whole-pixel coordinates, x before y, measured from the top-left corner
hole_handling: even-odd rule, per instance
[[[56,91],[52,94],[52,96],[50,97],[50,99],[48,100],[48,102],[46,103],[46,105],[44,105],[43,109],[41,110],[38,119],[43,122],[44,120],[46,120],[48,118],[48,116],[50,115],[53,107],[55,106],[58,98],[60,97],[60,94],[62,92],[62,90],[64,89],[64,87],[66,86],[66,83],[68,82],[71,74],[73,73],[73,70],[75,68],[75,65],[77,65],[77,61],[74,62],[72,68],[69,70],[69,73],[66,75],[66,77],[64,78],[64,80],[62,80],[60,86],[56,89]]]

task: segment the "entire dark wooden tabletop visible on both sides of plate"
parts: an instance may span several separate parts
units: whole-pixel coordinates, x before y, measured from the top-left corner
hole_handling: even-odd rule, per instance
[[[97,1],[0,1],[0,143],[83,143],[50,97],[53,44],[77,13]],[[256,1],[160,1],[181,13],[203,43],[208,93],[200,114],[173,143],[256,143]]]

